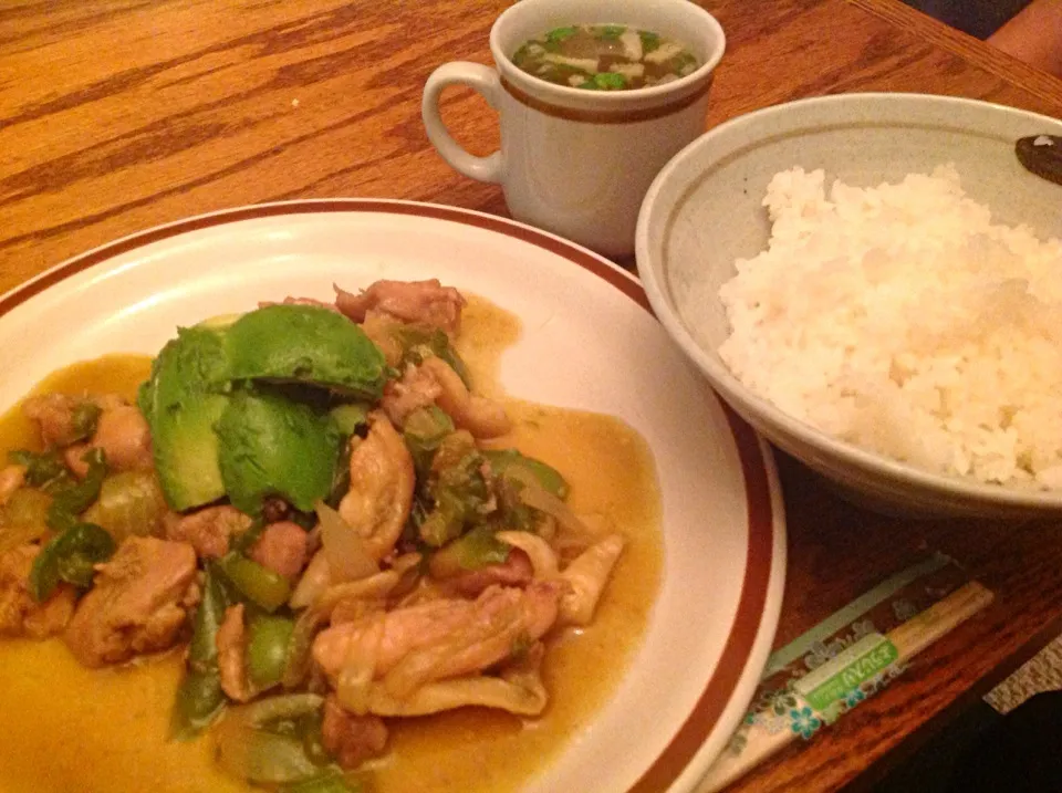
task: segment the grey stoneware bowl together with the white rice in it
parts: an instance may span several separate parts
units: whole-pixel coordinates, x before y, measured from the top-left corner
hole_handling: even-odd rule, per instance
[[[845,94],[722,124],[660,171],[638,271],[738,414],[873,509],[1062,512],[1062,185],[1048,116]],[[1062,155],[1062,153],[1060,153]]]

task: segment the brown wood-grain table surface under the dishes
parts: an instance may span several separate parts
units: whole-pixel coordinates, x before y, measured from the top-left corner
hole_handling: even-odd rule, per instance
[[[425,137],[438,64],[490,62],[504,0],[9,0],[0,9],[0,291],[67,257],[214,209],[290,198],[405,198],[503,215],[494,186]],[[1062,82],[897,0],[708,0],[727,31],[709,123],[787,100],[915,91],[1062,115]],[[486,105],[448,94],[477,154]],[[996,603],[882,695],[742,791],[866,786],[964,702],[1062,630],[1062,525],[910,523],[831,495],[782,460],[790,523],[784,644],[894,572],[944,551]]]

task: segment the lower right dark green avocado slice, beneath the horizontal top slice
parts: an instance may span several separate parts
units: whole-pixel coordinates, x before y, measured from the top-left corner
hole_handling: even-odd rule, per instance
[[[251,515],[269,495],[309,512],[327,498],[341,434],[327,414],[267,389],[232,394],[217,424],[218,462],[229,500]]]

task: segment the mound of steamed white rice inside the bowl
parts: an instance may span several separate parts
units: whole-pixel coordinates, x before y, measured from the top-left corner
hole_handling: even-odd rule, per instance
[[[930,471],[1062,488],[1062,243],[991,222],[950,166],[855,188],[777,174],[769,249],[720,290],[754,393]]]

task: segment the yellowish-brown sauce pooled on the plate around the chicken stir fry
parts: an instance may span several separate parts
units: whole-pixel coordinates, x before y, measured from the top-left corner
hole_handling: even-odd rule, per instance
[[[497,395],[497,362],[519,322],[471,299],[459,351],[477,390]],[[143,356],[106,356],[48,378],[39,390],[135,395]],[[622,421],[507,400],[511,442],[560,469],[577,513],[621,530],[628,545],[593,625],[550,641],[550,705],[523,721],[485,709],[392,720],[389,754],[372,769],[375,793],[516,790],[591,721],[618,685],[645,632],[659,584],[660,500],[645,441]],[[18,410],[0,418],[0,451],[30,445]],[[249,790],[215,766],[208,738],[166,740],[179,650],[117,669],[76,664],[61,640],[0,641],[0,793],[230,793]]]

